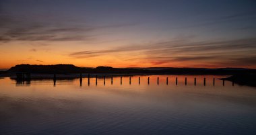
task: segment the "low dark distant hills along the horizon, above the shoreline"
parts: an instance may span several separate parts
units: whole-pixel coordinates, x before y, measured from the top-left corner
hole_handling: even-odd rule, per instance
[[[104,74],[144,74],[144,75],[236,75],[255,74],[256,69],[240,68],[113,68],[110,66],[98,66],[96,68],[85,68],[73,64],[55,65],[30,65],[18,64],[7,70],[6,73],[104,73]]]

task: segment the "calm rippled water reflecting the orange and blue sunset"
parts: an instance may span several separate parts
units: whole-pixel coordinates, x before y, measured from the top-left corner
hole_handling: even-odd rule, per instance
[[[256,89],[213,76],[16,85],[0,79],[0,134],[256,134]],[[169,77],[166,85],[166,77]],[[178,77],[178,85],[175,85]],[[217,76],[215,76],[218,78]],[[221,77],[220,77],[221,78]]]

